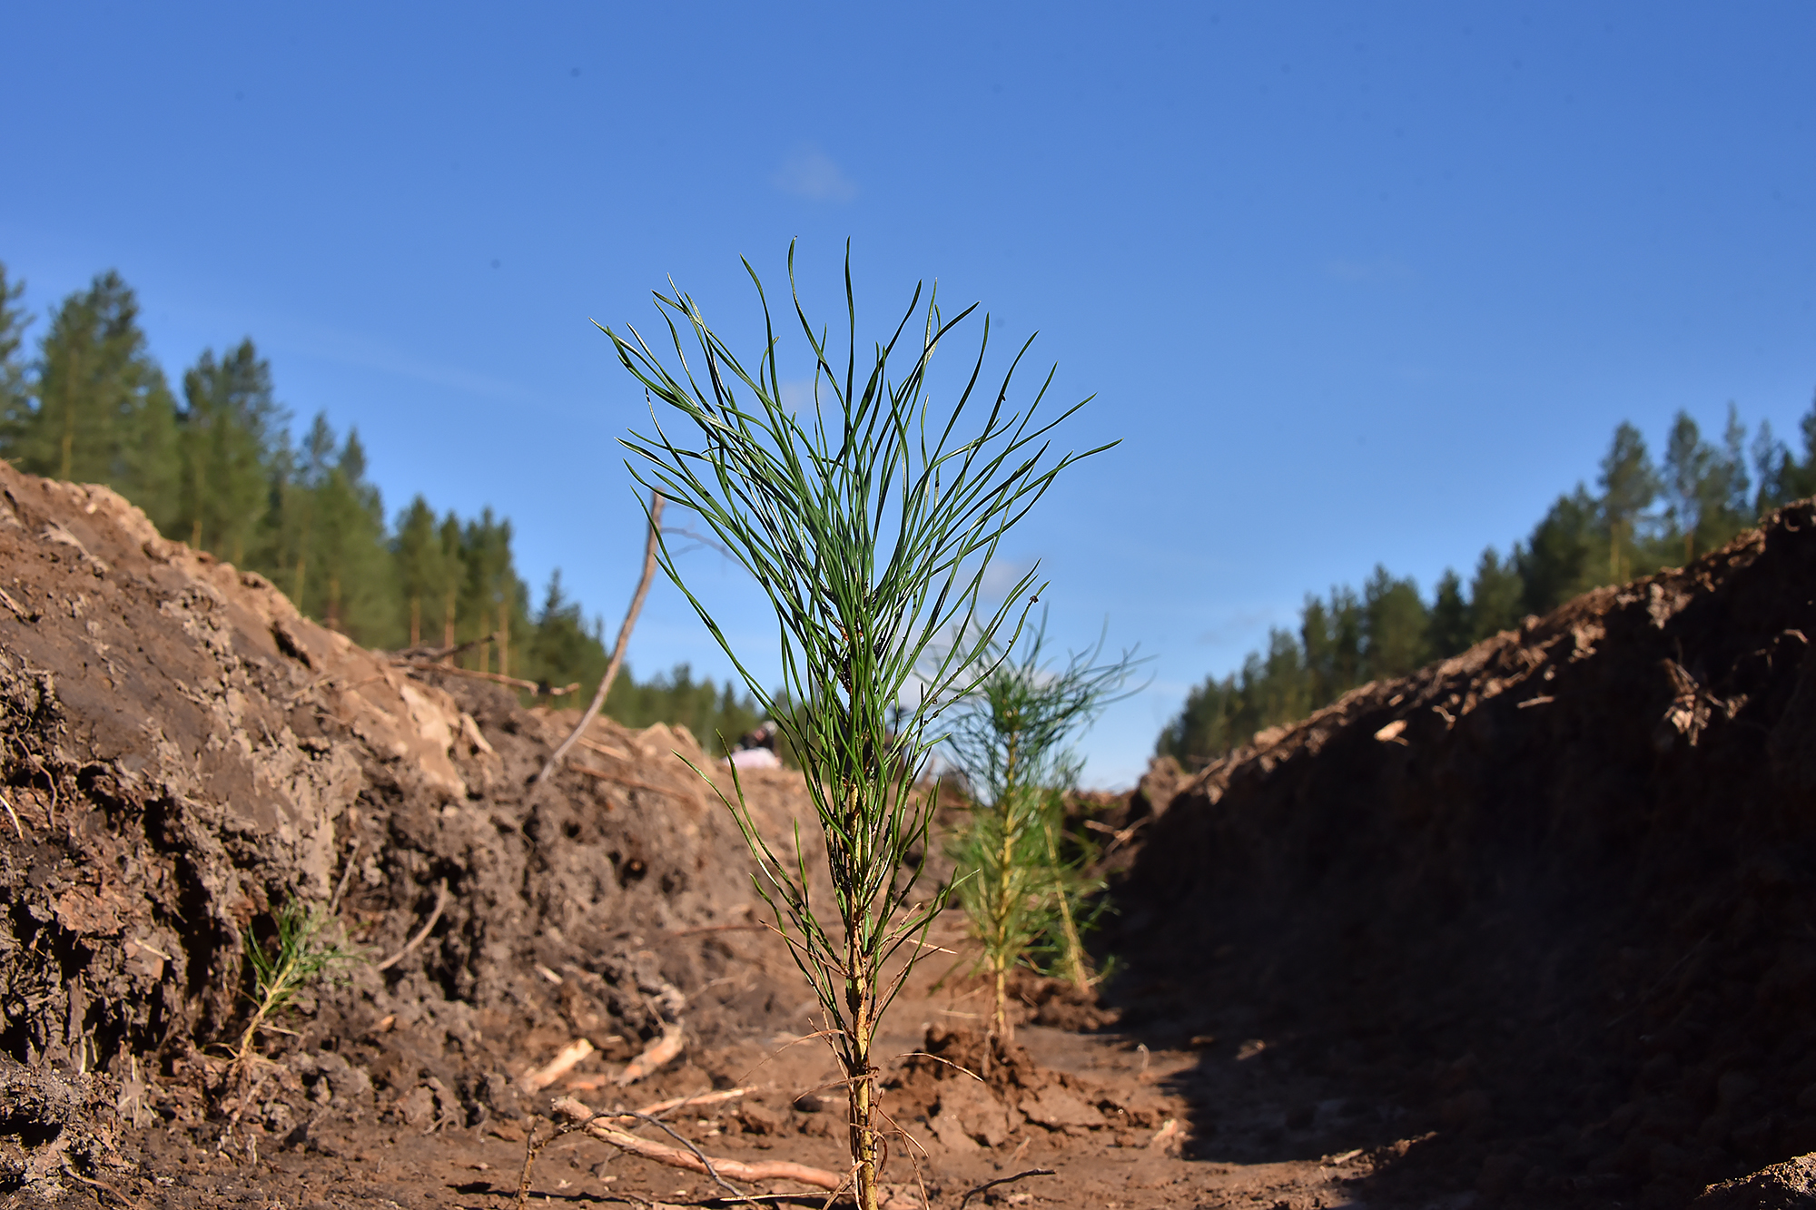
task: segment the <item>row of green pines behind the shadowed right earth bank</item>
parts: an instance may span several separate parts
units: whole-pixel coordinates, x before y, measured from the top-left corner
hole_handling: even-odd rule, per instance
[[[1202,767],[1357,685],[1455,656],[1587,589],[1712,550],[1772,509],[1816,494],[1816,405],[1800,427],[1801,456],[1763,422],[1749,441],[1734,405],[1720,441],[1678,412],[1654,461],[1640,431],[1622,423],[1596,491],[1578,483],[1558,496],[1507,554],[1482,550],[1467,583],[1446,570],[1427,601],[1413,580],[1377,565],[1360,592],[1340,585],[1309,594],[1298,632],[1271,630],[1268,647],[1239,670],[1193,689],[1157,752]]]

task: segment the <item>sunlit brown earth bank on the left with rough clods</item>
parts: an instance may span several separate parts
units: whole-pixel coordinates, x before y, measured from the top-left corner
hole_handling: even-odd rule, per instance
[[[777,1019],[794,988],[723,977],[748,861],[676,750],[710,761],[601,721],[532,785],[568,725],[0,463],[0,1054],[25,1065],[0,1070],[0,1192],[107,1181],[118,1121],[292,1145],[336,1116],[470,1125],[570,1041],[597,1066]],[[792,772],[745,787],[759,818],[806,810]],[[305,992],[274,1063],[229,1077],[242,934],[291,898],[403,956]]]

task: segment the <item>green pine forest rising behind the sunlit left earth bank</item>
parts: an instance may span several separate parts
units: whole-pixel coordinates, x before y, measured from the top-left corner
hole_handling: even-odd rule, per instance
[[[358,429],[340,434],[318,414],[298,436],[251,338],[202,351],[173,389],[116,273],[45,316],[35,356],[22,296],[0,265],[0,458],[113,487],[167,538],[263,574],[363,647],[472,643],[456,656],[465,669],[579,683],[541,698],[554,705],[590,698],[607,665],[601,621],[567,596],[559,569],[532,601],[508,520],[436,514],[421,496],[387,520]],[[683,723],[708,749],[761,721],[748,694],[686,665],[643,683],[627,669],[605,710],[627,727]]]

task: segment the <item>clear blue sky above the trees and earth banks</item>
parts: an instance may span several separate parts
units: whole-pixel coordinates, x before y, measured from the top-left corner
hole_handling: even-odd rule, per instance
[[[518,527],[608,627],[641,394],[590,325],[672,274],[734,338],[799,240],[872,327],[913,283],[1097,394],[1008,558],[1153,685],[1086,741],[1130,783],[1189,685],[1382,561],[1429,590],[1633,420],[1816,389],[1816,7],[7,7],[0,260],[44,309],[116,267],[174,376],[251,334],[280,396],[414,492]],[[42,327],[33,334],[42,332]],[[697,552],[737,641],[754,592]],[[679,596],[632,663],[723,676]]]

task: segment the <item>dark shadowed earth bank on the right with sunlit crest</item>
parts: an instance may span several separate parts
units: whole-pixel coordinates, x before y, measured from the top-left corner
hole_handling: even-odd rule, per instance
[[[1402,1141],[1371,1203],[1682,1206],[1816,1150],[1812,638],[1800,503],[1151,778],[1124,1023],[1309,1081],[1260,1136],[1200,1099],[1199,1154],[1347,1105]]]

